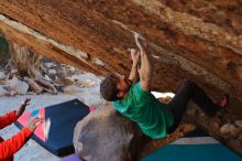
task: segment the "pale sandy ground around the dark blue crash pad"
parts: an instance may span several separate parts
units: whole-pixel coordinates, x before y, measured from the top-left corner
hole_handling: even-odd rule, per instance
[[[90,75],[84,74],[80,77],[89,79],[92,85],[91,88],[77,88],[77,93],[73,94],[42,94],[42,95],[24,95],[24,96],[14,96],[14,97],[0,97],[0,115],[3,115],[8,111],[18,109],[21,101],[26,97],[30,97],[31,105],[28,106],[26,110],[33,110],[41,107],[46,107],[63,103],[69,99],[78,98],[82,100],[86,105],[98,107],[98,105],[103,101],[99,96],[99,83],[100,78]],[[0,136],[6,140],[15,135],[19,129],[11,125],[2,130],[0,130]],[[34,140],[29,140],[28,143],[14,155],[14,161],[58,161],[61,158],[55,157],[54,154],[46,151],[44,148],[38,146]]]

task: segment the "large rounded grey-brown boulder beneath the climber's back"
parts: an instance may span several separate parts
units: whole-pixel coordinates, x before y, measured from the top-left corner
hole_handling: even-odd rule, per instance
[[[87,161],[132,161],[148,141],[141,138],[141,131],[133,122],[108,106],[77,124],[74,147]]]

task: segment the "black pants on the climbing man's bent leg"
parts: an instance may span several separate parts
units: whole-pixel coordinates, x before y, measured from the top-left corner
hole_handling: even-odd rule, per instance
[[[177,89],[175,97],[167,105],[167,108],[173,112],[175,122],[167,132],[172,133],[178,127],[180,119],[186,110],[189,100],[194,100],[200,109],[208,116],[216,115],[219,106],[213,104],[206,93],[194,82],[185,80]]]

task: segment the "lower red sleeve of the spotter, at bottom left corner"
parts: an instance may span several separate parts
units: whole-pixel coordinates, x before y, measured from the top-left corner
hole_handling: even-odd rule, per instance
[[[28,128],[23,128],[11,139],[0,142],[0,160],[7,159],[19,151],[25,144],[31,133]]]

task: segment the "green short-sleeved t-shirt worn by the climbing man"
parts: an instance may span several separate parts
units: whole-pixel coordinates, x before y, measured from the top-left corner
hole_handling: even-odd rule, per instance
[[[160,103],[154,95],[141,88],[141,83],[134,84],[127,97],[113,101],[118,111],[139,124],[141,130],[153,139],[164,138],[167,128],[174,124],[173,114]]]

